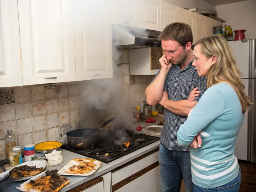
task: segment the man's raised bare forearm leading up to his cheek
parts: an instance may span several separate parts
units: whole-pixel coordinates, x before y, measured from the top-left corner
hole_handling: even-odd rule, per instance
[[[156,79],[148,85],[145,93],[149,105],[156,105],[162,99],[168,72],[169,70],[161,69]]]

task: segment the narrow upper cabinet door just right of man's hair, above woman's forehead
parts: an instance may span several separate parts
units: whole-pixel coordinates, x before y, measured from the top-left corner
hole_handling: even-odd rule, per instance
[[[204,31],[205,31],[205,16],[194,13],[194,19],[195,19],[195,27],[194,27],[194,35],[195,38],[193,40],[194,43],[196,43],[199,39],[202,39],[204,37]]]

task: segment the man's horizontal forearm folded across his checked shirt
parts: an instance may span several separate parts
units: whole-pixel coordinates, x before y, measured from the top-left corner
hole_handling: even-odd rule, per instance
[[[164,100],[160,101],[160,104],[167,108],[172,113],[181,115],[181,116],[188,116],[188,113],[192,110],[193,107],[196,106],[197,101],[189,101],[189,100]]]

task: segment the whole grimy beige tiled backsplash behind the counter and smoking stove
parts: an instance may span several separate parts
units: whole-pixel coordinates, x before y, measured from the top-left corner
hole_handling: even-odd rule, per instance
[[[107,120],[105,116],[100,118],[99,111],[104,110],[112,117],[111,111],[126,115],[125,107],[140,106],[141,99],[146,99],[145,89],[154,76],[130,76],[129,50],[113,50],[113,78],[56,86],[48,84],[0,88],[0,160],[5,158],[4,138],[9,129],[13,130],[16,144],[22,149],[29,143],[52,140],[64,143],[67,142],[66,132],[79,128],[81,122],[99,121],[97,123],[102,124]],[[108,91],[101,92],[103,86]],[[119,103],[115,100],[115,106],[104,108],[112,98]],[[87,108],[89,111],[85,113],[83,104],[98,106],[98,111],[93,112],[92,108]]]

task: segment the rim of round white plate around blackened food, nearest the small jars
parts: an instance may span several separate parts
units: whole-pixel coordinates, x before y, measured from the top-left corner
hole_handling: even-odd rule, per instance
[[[19,165],[15,166],[15,167],[20,167],[21,165],[28,165],[28,166],[35,166],[35,165],[36,165],[37,168],[43,167],[43,170],[42,170],[41,172],[43,172],[43,171],[48,167],[48,163],[47,163],[47,161],[45,161],[45,160],[28,161],[28,162],[19,164]],[[13,168],[12,168],[12,169],[13,169]],[[12,169],[10,170],[10,172],[12,171]],[[10,173],[10,172],[9,172],[9,173]],[[39,172],[39,173],[40,173],[40,172]],[[37,174],[39,174],[39,173],[37,173]],[[35,174],[35,175],[37,175],[37,174]],[[29,177],[19,177],[19,178],[18,178],[18,177],[11,177],[11,176],[9,175],[9,177],[11,177],[12,180],[14,180],[14,181],[22,181],[22,180],[31,179],[31,178],[34,177],[35,175],[29,176]]]

